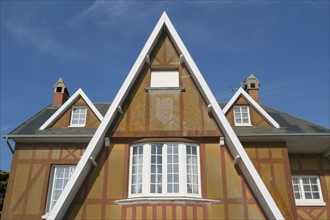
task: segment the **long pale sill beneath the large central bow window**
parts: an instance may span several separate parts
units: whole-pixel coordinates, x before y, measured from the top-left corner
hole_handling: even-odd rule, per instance
[[[157,197],[157,198],[130,198],[130,199],[121,199],[116,200],[115,203],[118,205],[131,205],[131,204],[153,204],[153,203],[162,203],[162,204],[213,204],[220,203],[221,200],[214,199],[199,199],[199,198],[186,198],[186,197]]]

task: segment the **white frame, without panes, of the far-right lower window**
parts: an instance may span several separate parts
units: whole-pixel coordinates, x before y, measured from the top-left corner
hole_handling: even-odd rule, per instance
[[[316,178],[316,185],[318,188],[318,194],[319,194],[319,199],[306,199],[305,191],[304,191],[304,184],[302,182],[303,178]],[[318,175],[293,175],[292,178],[292,190],[293,190],[293,196],[296,202],[296,206],[325,206],[325,202],[323,200],[323,195],[322,195],[322,188],[321,188],[321,183],[320,183],[320,177]],[[294,189],[294,183],[293,180],[298,179],[298,186],[299,186],[299,191],[295,191]],[[296,184],[295,184],[296,185]],[[295,193],[299,192],[301,194],[301,199],[296,199]],[[313,191],[311,191],[313,192]]]

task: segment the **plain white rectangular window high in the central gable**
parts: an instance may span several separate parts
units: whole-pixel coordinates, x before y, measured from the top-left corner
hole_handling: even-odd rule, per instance
[[[178,71],[152,71],[150,87],[179,87]]]

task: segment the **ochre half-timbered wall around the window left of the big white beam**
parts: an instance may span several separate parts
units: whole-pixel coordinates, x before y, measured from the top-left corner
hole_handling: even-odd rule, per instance
[[[41,219],[52,164],[77,164],[86,144],[17,144],[1,219]]]

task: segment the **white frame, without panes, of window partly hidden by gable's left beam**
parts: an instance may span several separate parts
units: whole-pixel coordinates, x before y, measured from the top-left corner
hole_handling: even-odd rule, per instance
[[[75,164],[53,164],[53,165],[51,165],[50,177],[49,177],[49,183],[48,183],[48,192],[47,192],[46,213],[49,213],[52,210],[52,208],[54,207],[52,205],[52,202],[53,202],[52,197],[53,197],[53,191],[54,191],[54,186],[55,186],[55,173],[56,173],[56,169],[58,169],[60,167],[69,168],[70,176],[68,178],[68,181],[71,178],[74,170],[76,169]],[[73,169],[73,170],[71,170],[71,169]],[[63,189],[64,188],[65,188],[65,186],[63,187]],[[62,189],[62,192],[63,192],[63,189]],[[58,199],[56,200],[56,202],[57,201],[58,201]],[[54,205],[56,204],[56,202],[54,203]]]

